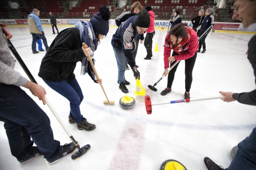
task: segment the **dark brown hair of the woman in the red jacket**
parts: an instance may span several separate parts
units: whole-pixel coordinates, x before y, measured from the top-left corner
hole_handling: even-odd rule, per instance
[[[187,37],[187,28],[185,26],[187,26],[187,22],[185,22],[185,23],[181,22],[180,24],[174,25],[168,32],[169,35],[166,39],[166,42],[170,44],[170,42],[168,42],[168,40],[169,40],[171,34],[174,35],[177,38],[177,40],[178,40],[178,38],[182,38],[182,39],[186,38]],[[174,48],[176,48],[177,45],[178,45],[178,43],[176,41]]]

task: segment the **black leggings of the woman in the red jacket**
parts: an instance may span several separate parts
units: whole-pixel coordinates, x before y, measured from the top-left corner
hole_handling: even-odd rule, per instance
[[[176,53],[175,51],[172,52],[172,56],[178,55],[178,53]],[[185,89],[186,92],[190,91],[191,88],[191,84],[192,84],[192,72],[194,69],[194,65],[196,63],[196,59],[197,59],[197,53],[195,53],[195,55],[193,57],[190,57],[189,59],[185,60]],[[177,61],[175,61],[177,62]],[[175,63],[170,63],[170,67]],[[180,63],[180,62],[179,62]],[[175,76],[175,72],[177,70],[178,64],[176,64],[175,67],[173,67],[169,74],[168,74],[168,81],[167,81],[167,87],[168,88],[172,88],[172,82],[174,80],[174,76]]]

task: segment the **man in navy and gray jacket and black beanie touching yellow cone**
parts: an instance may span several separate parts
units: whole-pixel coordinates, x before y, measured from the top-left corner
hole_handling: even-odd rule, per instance
[[[139,34],[143,34],[150,24],[150,15],[147,10],[143,9],[138,16],[131,16],[123,22],[112,37],[111,45],[113,46],[118,67],[118,83],[119,89],[123,93],[128,93],[125,85],[124,72],[127,63],[130,65],[133,76],[140,78],[140,73],[136,68],[135,59],[133,57],[133,42],[137,39]]]

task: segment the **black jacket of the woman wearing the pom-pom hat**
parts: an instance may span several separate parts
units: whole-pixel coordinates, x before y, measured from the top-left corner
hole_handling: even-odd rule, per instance
[[[71,81],[75,78],[76,63],[86,57],[78,28],[61,31],[42,59],[38,76],[48,81]]]

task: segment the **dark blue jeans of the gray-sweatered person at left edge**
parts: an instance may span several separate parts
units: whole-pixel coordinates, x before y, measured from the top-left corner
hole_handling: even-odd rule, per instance
[[[34,142],[47,160],[62,151],[59,141],[53,139],[48,116],[20,87],[0,84],[0,120],[5,123],[11,154],[17,160],[32,156]]]

